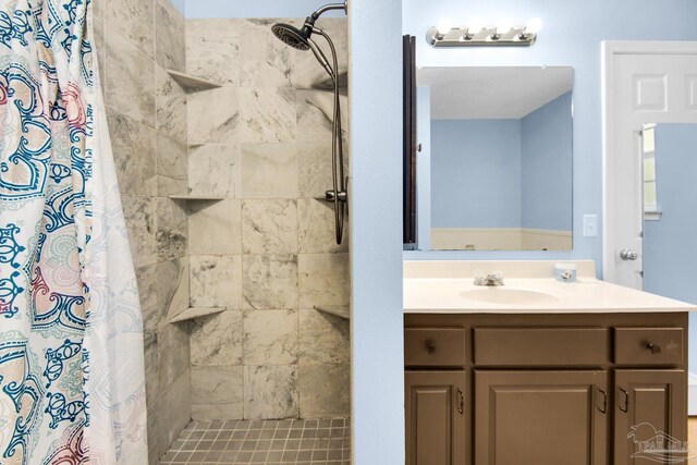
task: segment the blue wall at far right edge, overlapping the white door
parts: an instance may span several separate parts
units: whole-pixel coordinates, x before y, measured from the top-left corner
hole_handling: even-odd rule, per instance
[[[644,221],[644,290],[697,305],[697,124],[656,126],[660,221]],[[689,370],[697,374],[697,316],[689,318]]]

